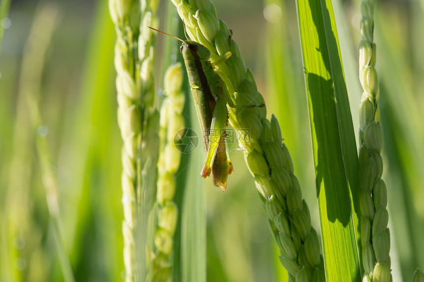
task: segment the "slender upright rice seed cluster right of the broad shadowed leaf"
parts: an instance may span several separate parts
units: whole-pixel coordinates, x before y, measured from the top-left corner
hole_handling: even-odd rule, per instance
[[[380,156],[382,132],[378,108],[379,87],[376,63],[376,45],[373,43],[372,0],[361,3],[362,20],[359,43],[359,80],[363,94],[359,106],[359,174],[363,282],[391,281],[390,232],[387,227],[387,189],[381,179],[383,161]]]

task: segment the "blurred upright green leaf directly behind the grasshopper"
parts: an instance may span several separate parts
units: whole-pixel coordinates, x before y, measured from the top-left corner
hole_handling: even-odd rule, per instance
[[[184,38],[182,23],[179,20],[178,23],[175,34]],[[179,52],[179,43],[174,39],[167,45],[174,45],[169,48],[170,54],[176,56],[177,62],[184,63]],[[183,108],[185,126],[196,131],[197,136],[201,136],[185,69],[182,87],[185,94]],[[174,201],[180,212],[174,237],[173,282],[206,282],[206,181],[200,177],[200,168],[204,164],[205,155],[203,141],[200,139],[198,141],[197,149],[181,154],[181,162],[176,173]]]

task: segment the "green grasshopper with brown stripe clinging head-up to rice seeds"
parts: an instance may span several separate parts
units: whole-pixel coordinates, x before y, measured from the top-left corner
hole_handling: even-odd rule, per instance
[[[158,31],[151,27],[148,28]],[[263,107],[264,104],[258,106],[235,105],[224,82],[214,71],[215,65],[224,63],[231,56],[231,35],[228,38],[230,51],[212,62],[212,60],[210,61],[211,52],[202,44],[188,40],[188,38],[182,40],[168,33],[158,32],[182,42],[179,50],[184,58],[191,94],[207,150],[205,165],[200,176],[206,178],[212,173],[213,185],[225,191],[227,177],[233,172],[233,165],[228,150],[226,150],[225,142],[227,136],[225,127],[228,126],[227,105],[231,108],[253,108]]]

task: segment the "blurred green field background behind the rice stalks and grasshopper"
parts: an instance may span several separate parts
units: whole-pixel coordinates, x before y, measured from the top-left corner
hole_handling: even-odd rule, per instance
[[[295,2],[213,3],[234,32],[268,115],[280,122],[319,229]],[[359,3],[333,1],[355,128]],[[159,6],[162,30],[165,4]],[[67,265],[75,281],[121,281],[122,141],[107,1],[13,0],[5,17],[0,18],[0,281],[64,281],[70,277]],[[377,1],[374,37],[393,281],[409,281],[416,267],[424,268],[423,31],[423,0]],[[163,40],[158,36],[158,94]],[[202,149],[196,154],[203,156]],[[243,154],[231,157],[235,171],[225,193],[210,180],[196,182],[207,197],[207,280],[284,281]],[[188,178],[200,178],[199,172],[200,167],[190,168]]]

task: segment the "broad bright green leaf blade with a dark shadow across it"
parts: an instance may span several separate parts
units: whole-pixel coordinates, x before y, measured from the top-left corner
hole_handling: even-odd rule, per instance
[[[326,279],[360,281],[351,213],[359,211],[358,162],[332,4],[298,0],[297,8]]]

